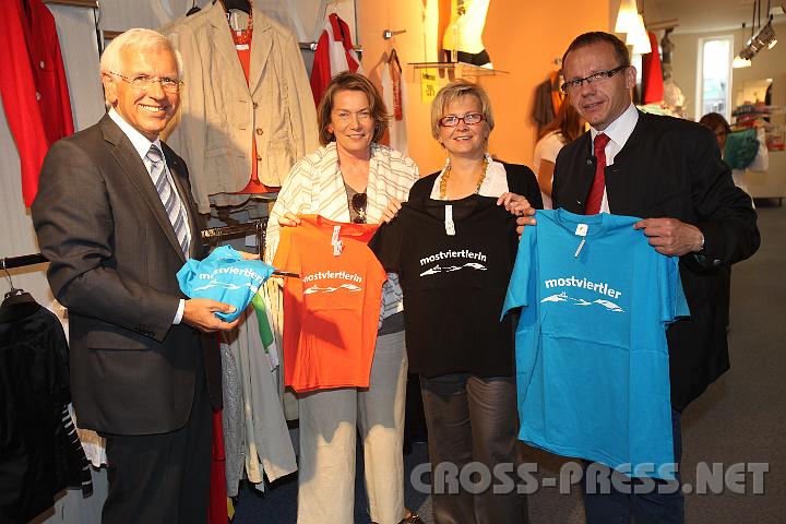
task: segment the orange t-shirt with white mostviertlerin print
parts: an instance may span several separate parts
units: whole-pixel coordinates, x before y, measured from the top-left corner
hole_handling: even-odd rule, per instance
[[[284,383],[297,392],[368,388],[388,278],[366,246],[378,225],[300,218],[282,228],[273,261],[300,274],[284,285]]]

